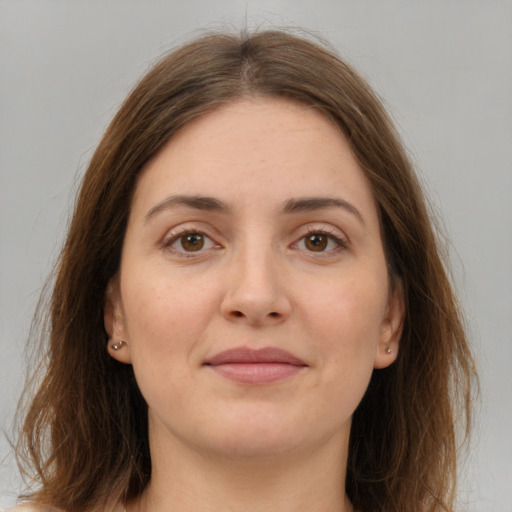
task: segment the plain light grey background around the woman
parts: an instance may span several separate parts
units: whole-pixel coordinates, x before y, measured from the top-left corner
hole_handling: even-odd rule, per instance
[[[0,427],[78,177],[116,108],[201,29],[262,24],[325,36],[398,124],[451,240],[482,379],[460,510],[512,511],[510,0],[0,0]],[[20,485],[0,434],[0,508]]]

